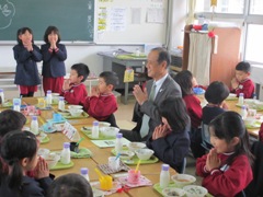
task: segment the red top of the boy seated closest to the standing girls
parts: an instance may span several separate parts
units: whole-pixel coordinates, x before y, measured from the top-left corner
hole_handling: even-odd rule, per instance
[[[84,84],[71,88],[69,91],[64,92],[64,97],[69,104],[79,105],[88,96]]]

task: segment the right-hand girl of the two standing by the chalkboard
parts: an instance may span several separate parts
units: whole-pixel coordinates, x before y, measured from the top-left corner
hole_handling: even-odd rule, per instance
[[[59,44],[60,34],[56,26],[48,26],[44,35],[45,45],[41,46],[43,55],[43,89],[61,93],[64,76],[66,74],[65,60],[67,50],[65,45]]]

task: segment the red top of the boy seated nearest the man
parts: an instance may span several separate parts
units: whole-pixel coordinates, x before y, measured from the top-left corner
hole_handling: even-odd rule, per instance
[[[88,114],[98,120],[106,119],[110,115],[117,111],[116,97],[112,95],[100,95],[90,97],[90,106]]]

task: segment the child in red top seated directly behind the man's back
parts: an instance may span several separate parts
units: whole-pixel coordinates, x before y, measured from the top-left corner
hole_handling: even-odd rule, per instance
[[[201,146],[202,132],[201,132],[201,121],[202,121],[202,107],[201,101],[194,95],[193,86],[196,83],[193,74],[188,70],[183,70],[179,72],[174,80],[181,86],[183,100],[186,105],[187,114],[191,118],[191,149],[194,158],[199,158],[205,154],[205,149]]]

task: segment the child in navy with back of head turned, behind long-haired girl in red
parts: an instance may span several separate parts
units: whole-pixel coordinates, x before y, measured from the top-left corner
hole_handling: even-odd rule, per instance
[[[219,114],[228,109],[224,100],[229,95],[228,86],[219,81],[214,81],[209,84],[205,92],[205,99],[208,104],[203,111],[203,124],[208,125]]]

